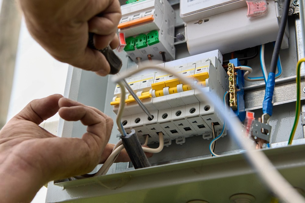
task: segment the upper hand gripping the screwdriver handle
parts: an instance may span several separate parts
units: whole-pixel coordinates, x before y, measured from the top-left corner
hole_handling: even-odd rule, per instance
[[[21,0],[20,5],[30,34],[54,58],[102,76],[110,72],[104,55],[87,47],[88,32],[95,33],[98,49],[118,46],[118,0]]]

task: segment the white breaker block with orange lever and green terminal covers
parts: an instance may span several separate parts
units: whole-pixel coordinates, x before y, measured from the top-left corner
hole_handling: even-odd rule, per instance
[[[121,11],[119,33],[124,34],[124,51],[133,61],[175,58],[176,17],[167,0],[131,1]]]

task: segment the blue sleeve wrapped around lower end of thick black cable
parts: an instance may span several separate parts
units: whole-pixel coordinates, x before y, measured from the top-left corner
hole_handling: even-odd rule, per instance
[[[266,84],[266,92],[263,101],[263,113],[272,115],[273,105],[272,105],[272,98],[274,92],[274,85],[275,85],[275,74],[269,73],[268,80]]]

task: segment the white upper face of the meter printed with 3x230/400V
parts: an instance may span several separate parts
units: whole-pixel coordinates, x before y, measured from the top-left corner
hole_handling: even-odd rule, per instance
[[[180,16],[189,22],[246,5],[245,0],[180,0]]]

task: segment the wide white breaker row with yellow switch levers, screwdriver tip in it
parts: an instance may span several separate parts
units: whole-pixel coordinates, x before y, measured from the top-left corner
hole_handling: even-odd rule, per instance
[[[219,101],[222,101],[227,74],[221,64],[222,55],[216,50],[160,66],[172,69],[181,77],[192,77],[197,85],[202,86],[206,92],[217,95]],[[191,89],[190,85],[183,84],[179,78],[166,71],[158,71],[133,75],[126,80],[153,115],[153,119],[150,119],[127,92],[122,117],[127,133],[135,129],[138,136],[149,135],[149,143],[153,143],[159,140],[158,132],[163,132],[165,145],[169,145],[172,140],[183,144],[185,138],[196,135],[201,135],[204,139],[212,138],[212,123],[216,135],[221,132],[223,119],[214,109],[214,104],[207,102],[199,92]],[[120,87],[117,86],[111,102],[116,114],[119,102]]]

